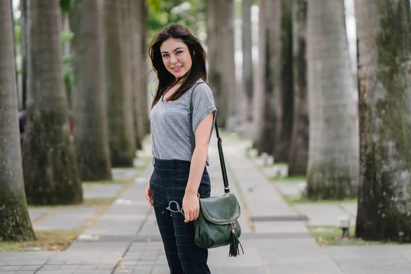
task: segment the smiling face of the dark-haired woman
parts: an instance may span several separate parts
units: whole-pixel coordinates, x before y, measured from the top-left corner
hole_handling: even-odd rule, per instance
[[[164,66],[175,78],[183,77],[192,66],[190,51],[181,39],[169,38],[160,46]]]

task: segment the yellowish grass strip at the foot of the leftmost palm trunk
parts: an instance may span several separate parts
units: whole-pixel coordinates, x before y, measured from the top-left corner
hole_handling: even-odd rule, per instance
[[[36,230],[37,240],[0,242],[0,251],[63,251],[81,234],[81,229]]]

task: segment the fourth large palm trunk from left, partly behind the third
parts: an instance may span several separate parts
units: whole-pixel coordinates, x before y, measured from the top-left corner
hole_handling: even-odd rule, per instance
[[[108,131],[112,166],[133,166],[134,147],[129,133],[128,97],[125,90],[121,11],[116,0],[103,5],[105,86],[107,88]]]

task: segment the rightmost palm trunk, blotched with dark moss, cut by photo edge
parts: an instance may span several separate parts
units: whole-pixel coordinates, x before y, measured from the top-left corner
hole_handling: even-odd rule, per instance
[[[356,236],[411,242],[409,0],[357,0],[360,193]]]

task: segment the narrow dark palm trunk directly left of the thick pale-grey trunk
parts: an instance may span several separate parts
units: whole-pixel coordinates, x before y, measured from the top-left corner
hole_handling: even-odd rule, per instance
[[[307,0],[295,0],[292,10],[294,114],[288,175],[306,175],[308,158]]]

